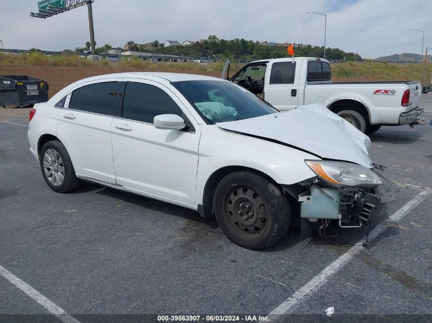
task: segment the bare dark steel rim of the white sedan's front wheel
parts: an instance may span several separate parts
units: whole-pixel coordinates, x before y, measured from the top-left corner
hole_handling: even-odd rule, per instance
[[[256,239],[267,226],[267,211],[262,198],[249,186],[226,190],[223,205],[230,230],[242,239]]]

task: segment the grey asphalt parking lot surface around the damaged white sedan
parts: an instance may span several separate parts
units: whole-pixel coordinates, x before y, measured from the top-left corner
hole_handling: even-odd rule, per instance
[[[400,193],[373,222],[383,229],[369,247],[357,244],[366,228],[302,242],[292,228],[261,252],[188,209],[94,184],[55,193],[28,149],[28,109],[0,108],[0,269],[82,322],[76,314],[281,310],[330,319],[331,306],[335,315],[432,320],[432,94],[422,106],[425,126],[371,135],[372,159]],[[48,313],[0,276],[0,314]]]

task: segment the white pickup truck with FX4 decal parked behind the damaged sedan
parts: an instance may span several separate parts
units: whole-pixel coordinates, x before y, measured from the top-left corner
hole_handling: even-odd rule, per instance
[[[327,60],[311,57],[260,60],[229,77],[229,62],[222,78],[261,96],[281,111],[321,103],[363,133],[374,133],[382,125],[424,124],[419,106],[421,83],[332,82]]]

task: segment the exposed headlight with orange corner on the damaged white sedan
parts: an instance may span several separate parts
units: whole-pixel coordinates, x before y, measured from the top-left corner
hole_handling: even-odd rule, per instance
[[[379,176],[372,170],[360,165],[346,162],[305,160],[313,172],[336,186],[369,186],[382,184]]]

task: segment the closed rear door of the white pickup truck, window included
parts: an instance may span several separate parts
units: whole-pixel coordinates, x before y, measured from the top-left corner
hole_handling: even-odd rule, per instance
[[[299,105],[298,87],[300,68],[295,61],[274,62],[266,74],[264,100],[281,111]]]

